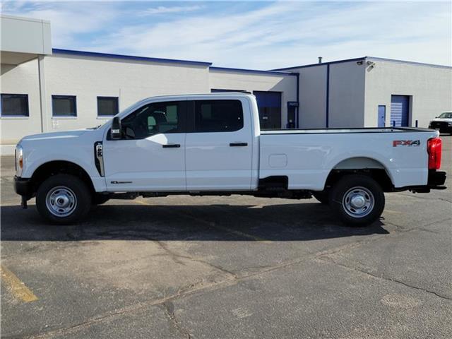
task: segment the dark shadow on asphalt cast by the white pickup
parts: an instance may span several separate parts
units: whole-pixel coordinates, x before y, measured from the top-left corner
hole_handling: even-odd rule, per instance
[[[35,206],[1,207],[2,241],[173,240],[308,241],[368,234],[388,234],[381,221],[347,227],[328,206],[293,203],[271,206],[106,205],[77,225],[49,225]]]

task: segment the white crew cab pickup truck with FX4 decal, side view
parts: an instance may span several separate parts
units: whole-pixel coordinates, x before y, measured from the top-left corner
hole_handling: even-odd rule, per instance
[[[169,194],[311,198],[369,225],[383,192],[445,189],[439,132],[259,128],[253,95],[150,97],[95,129],[26,136],[16,147],[23,207],[56,223],[110,198]]]

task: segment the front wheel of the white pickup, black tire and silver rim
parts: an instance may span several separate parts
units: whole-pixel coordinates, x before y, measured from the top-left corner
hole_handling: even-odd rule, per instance
[[[37,189],[36,208],[54,224],[71,224],[81,220],[91,207],[91,193],[80,178],[57,174],[46,179]]]

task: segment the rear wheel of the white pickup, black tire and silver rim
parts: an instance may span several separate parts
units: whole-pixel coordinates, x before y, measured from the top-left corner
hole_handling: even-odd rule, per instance
[[[336,182],[330,194],[333,212],[349,226],[371,225],[383,213],[384,203],[381,186],[365,175],[350,174],[343,177]]]

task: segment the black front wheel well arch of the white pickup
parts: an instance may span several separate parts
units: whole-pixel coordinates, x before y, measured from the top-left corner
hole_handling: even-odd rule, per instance
[[[75,177],[82,179],[83,182],[87,184],[91,193],[92,194],[95,193],[93,182],[91,181],[91,178],[85,171],[85,169],[83,169],[77,164],[74,164],[73,162],[64,160],[46,162],[45,164],[40,165],[40,167],[37,167],[37,169],[35,170],[31,177],[33,183],[33,191],[36,192],[40,184],[42,184],[42,182],[44,182],[45,179],[52,177],[52,175],[54,174],[60,173],[71,174]]]

